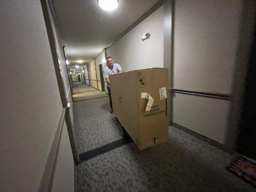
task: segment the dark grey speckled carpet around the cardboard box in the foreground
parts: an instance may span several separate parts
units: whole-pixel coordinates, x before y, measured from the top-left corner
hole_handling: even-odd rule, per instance
[[[225,169],[234,156],[175,127],[166,143],[141,151],[134,143],[117,144],[120,124],[108,97],[76,102],[73,109],[78,152],[89,154],[75,165],[76,192],[255,191]],[[85,153],[92,151],[102,154]]]

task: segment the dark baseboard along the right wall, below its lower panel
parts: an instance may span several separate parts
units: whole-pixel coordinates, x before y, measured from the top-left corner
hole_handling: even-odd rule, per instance
[[[187,132],[187,133],[193,135],[197,139],[200,139],[200,140],[202,140],[202,141],[204,141],[204,142],[206,142],[208,144],[211,144],[213,146],[216,146],[219,149],[225,151],[226,153],[233,154],[235,152],[234,149],[232,149],[231,147],[229,147],[229,146],[227,146],[225,144],[220,144],[217,141],[214,141],[214,140],[212,140],[212,139],[210,139],[210,138],[208,138],[208,137],[206,137],[204,135],[201,135],[201,134],[199,134],[197,132],[194,132],[194,131],[192,131],[192,130],[186,128],[186,127],[183,127],[182,125],[179,125],[179,124],[177,124],[175,122],[171,122],[170,125],[173,126],[173,127],[178,128],[179,130],[181,130],[183,132]]]

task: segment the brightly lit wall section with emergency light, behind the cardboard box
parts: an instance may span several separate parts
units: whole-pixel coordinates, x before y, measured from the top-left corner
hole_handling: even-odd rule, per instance
[[[142,41],[140,36],[146,32],[151,36]],[[108,48],[107,56],[125,72],[163,67],[163,6]]]

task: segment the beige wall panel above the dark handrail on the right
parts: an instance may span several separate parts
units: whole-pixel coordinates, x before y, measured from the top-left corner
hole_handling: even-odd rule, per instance
[[[175,88],[231,93],[242,0],[175,2]]]

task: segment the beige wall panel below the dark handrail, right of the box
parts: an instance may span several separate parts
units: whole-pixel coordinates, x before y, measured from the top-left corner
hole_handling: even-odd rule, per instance
[[[221,144],[230,102],[206,97],[173,94],[173,121]]]

